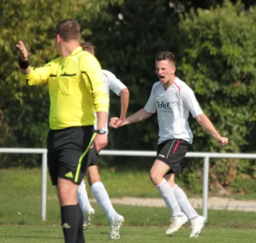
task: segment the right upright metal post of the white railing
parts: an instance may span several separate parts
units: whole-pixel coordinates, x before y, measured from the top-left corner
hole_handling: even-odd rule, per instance
[[[209,179],[209,157],[204,157],[204,179],[203,179],[203,202],[202,214],[207,219],[207,201],[208,201],[208,179]]]

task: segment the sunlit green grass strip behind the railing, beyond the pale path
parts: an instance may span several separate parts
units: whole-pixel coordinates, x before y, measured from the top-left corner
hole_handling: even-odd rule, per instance
[[[101,179],[111,197],[159,197],[158,190],[155,190],[149,180],[148,171],[101,169]],[[0,183],[0,193],[9,191],[11,196],[12,194],[15,195],[16,190],[19,190],[20,194],[40,197],[41,169],[1,169]],[[182,187],[181,182],[178,181],[177,183]],[[93,197],[91,190],[87,191],[89,197]],[[202,197],[202,194],[193,194],[189,190],[186,192],[189,197]],[[209,196],[215,195],[209,194]],[[48,177],[48,198],[51,199],[52,197],[55,197],[55,188],[51,186]],[[256,194],[236,194],[229,197],[240,200],[256,200]]]

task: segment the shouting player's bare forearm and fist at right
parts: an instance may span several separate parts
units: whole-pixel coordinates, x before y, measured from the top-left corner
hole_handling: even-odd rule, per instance
[[[217,140],[220,145],[227,145],[229,139],[227,137],[221,137],[221,135],[219,135],[218,131],[216,130],[215,126],[213,126],[212,121],[210,121],[207,115],[205,115],[204,113],[197,115],[196,120],[203,128],[207,129],[207,131],[210,132],[210,134]]]

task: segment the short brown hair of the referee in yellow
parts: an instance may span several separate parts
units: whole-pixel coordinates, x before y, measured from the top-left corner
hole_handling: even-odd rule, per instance
[[[74,19],[63,19],[56,25],[56,35],[65,41],[80,39],[80,25]]]

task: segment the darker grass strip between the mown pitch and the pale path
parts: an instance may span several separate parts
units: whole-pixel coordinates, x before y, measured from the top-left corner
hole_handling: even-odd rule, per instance
[[[92,204],[96,211],[93,225],[107,226],[108,219],[97,204]],[[170,212],[166,207],[133,207],[114,205],[118,213],[124,215],[127,226],[166,227],[170,221]],[[201,213],[201,210],[198,210]],[[15,201],[1,202],[0,224],[18,225],[59,225],[60,210],[56,200],[48,201],[47,221],[40,219],[40,202],[24,197]],[[254,228],[256,229],[256,213],[243,211],[208,210],[207,227],[222,228]],[[1,242],[1,241],[0,241]]]

